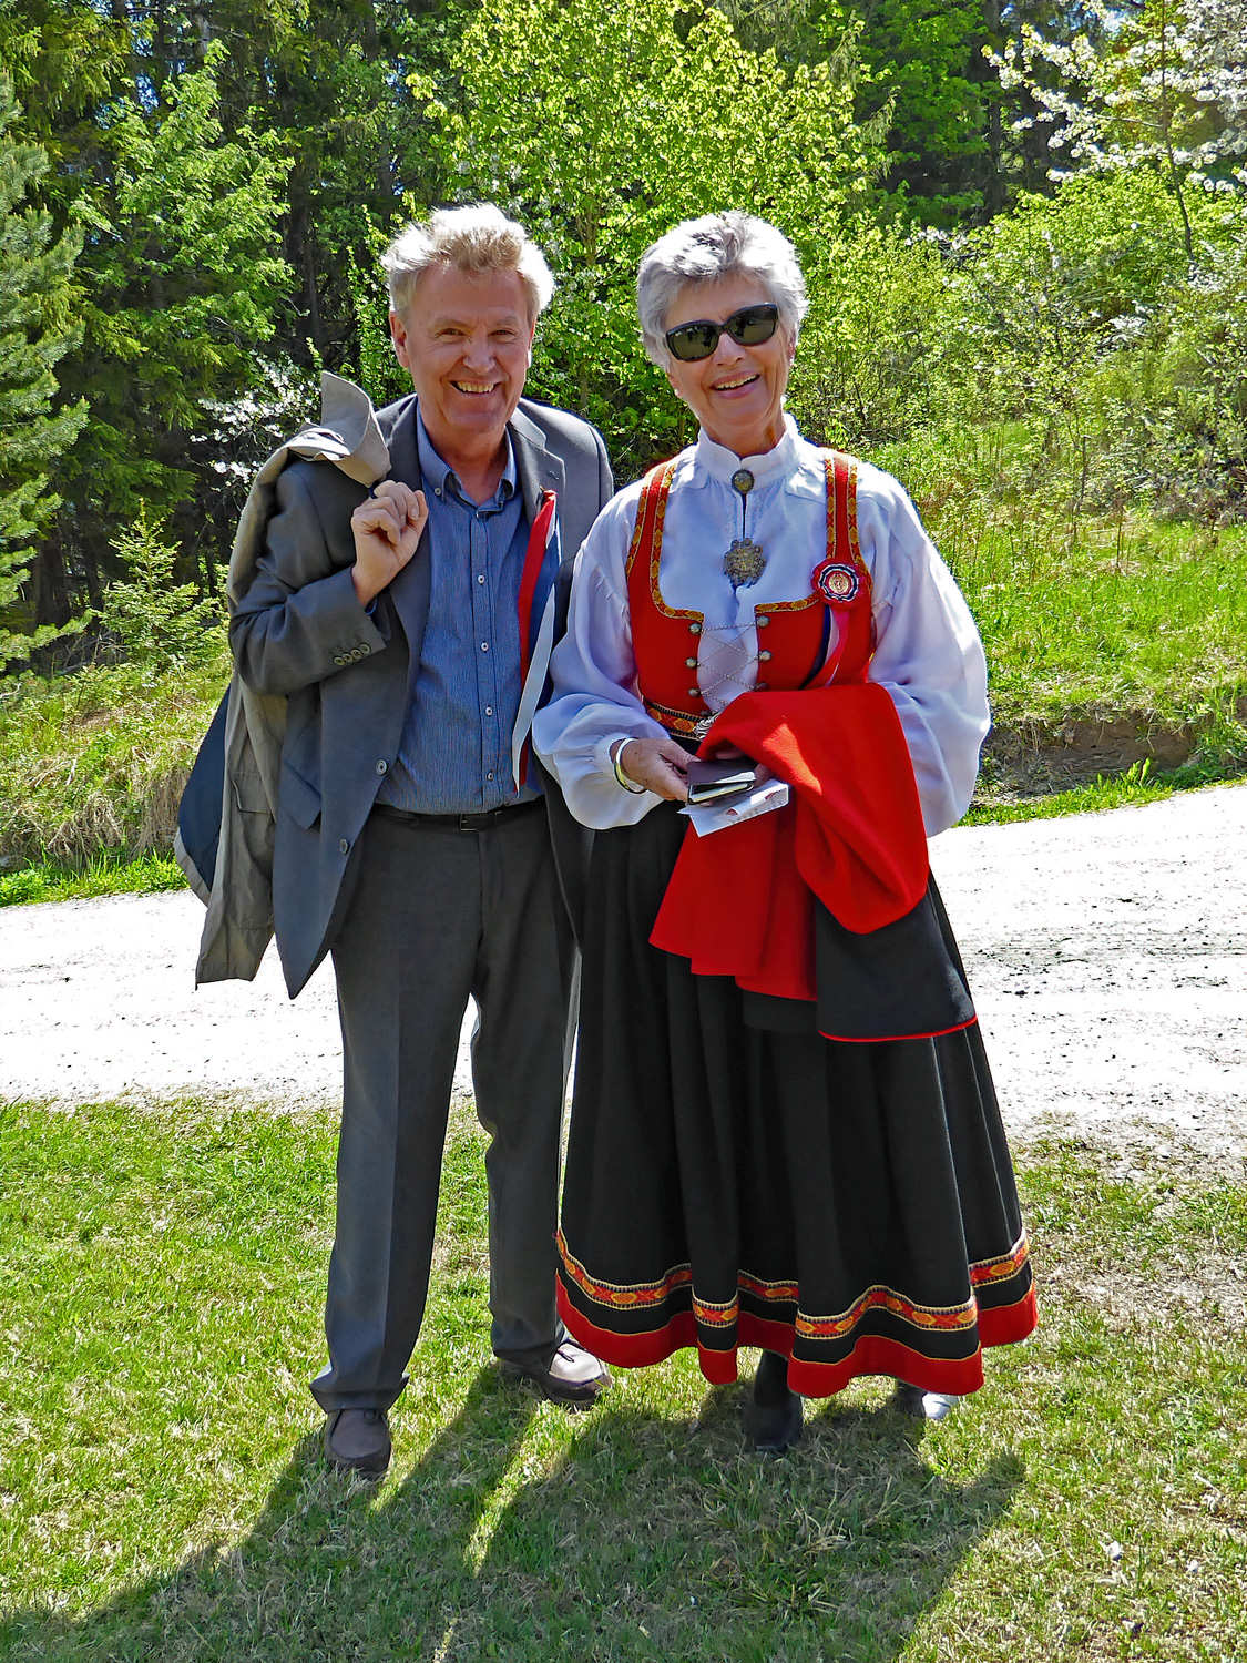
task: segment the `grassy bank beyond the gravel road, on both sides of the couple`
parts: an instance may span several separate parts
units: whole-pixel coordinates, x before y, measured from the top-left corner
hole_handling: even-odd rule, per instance
[[[964,589],[998,728],[1047,747],[1079,720],[1126,722],[1144,750],[1156,730],[1194,737],[1190,762],[1166,777],[1132,768],[1029,802],[1001,765],[969,823],[1151,802],[1247,773],[1247,526],[1139,504],[1076,511],[1077,469],[1018,422],[958,424],[873,459],[913,491]],[[178,881],[166,861],[178,800],[226,674],[223,655],[176,677],[95,667],[5,692],[0,905],[163,886],[146,856]]]

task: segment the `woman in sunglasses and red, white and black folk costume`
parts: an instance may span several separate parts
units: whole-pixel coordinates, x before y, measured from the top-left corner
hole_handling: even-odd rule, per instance
[[[697,1345],[727,1382],[760,1347],[747,1424],[778,1452],[801,1395],[856,1375],[939,1419],[984,1345],[1034,1327],[926,868],[924,833],[969,803],[986,675],[903,489],[785,416],[791,244],[687,221],[642,259],[638,308],[700,434],[599,516],[534,727],[599,832],[559,1302],[625,1367]],[[763,763],[788,805],[698,835],[695,750]]]

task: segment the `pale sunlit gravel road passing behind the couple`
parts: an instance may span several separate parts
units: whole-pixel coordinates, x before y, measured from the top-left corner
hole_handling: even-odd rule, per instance
[[[1247,1152],[1247,785],[948,832],[931,863],[1013,1133]],[[338,1096],[333,976],[193,986],[190,893],[0,911],[0,1094]],[[467,1026],[459,1089],[469,1089]]]

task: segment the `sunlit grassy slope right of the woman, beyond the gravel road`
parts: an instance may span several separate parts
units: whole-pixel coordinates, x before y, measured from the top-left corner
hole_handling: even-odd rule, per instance
[[[951,565],[1001,727],[1132,717],[1215,728],[1247,697],[1247,526],[1077,507],[1077,467],[1018,422],[883,446]],[[1247,735],[1237,735],[1239,768]]]

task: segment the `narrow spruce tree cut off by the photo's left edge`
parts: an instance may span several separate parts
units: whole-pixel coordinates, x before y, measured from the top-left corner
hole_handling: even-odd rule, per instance
[[[48,166],[40,145],[17,143],[12,81],[0,75],[0,674],[63,629],[23,629],[22,585],[33,544],[60,506],[48,491],[57,457],[86,421],[86,402],[57,407],[55,366],[81,326],[73,261],[81,236],[53,238],[52,215],[23,208]]]

